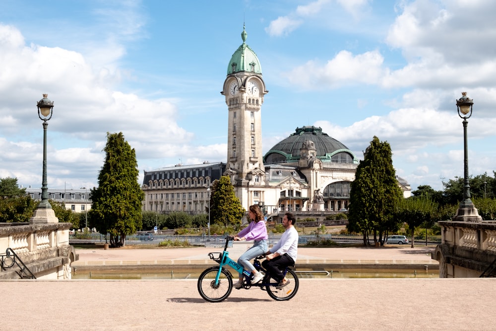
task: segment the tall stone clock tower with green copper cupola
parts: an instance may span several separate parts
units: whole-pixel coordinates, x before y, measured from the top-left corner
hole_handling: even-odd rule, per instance
[[[221,91],[228,109],[225,175],[230,176],[236,196],[246,209],[250,204],[263,201],[265,169],[260,113],[263,97],[268,93],[262,79],[260,62],[246,43],[247,36],[243,26],[243,44],[229,61]]]

